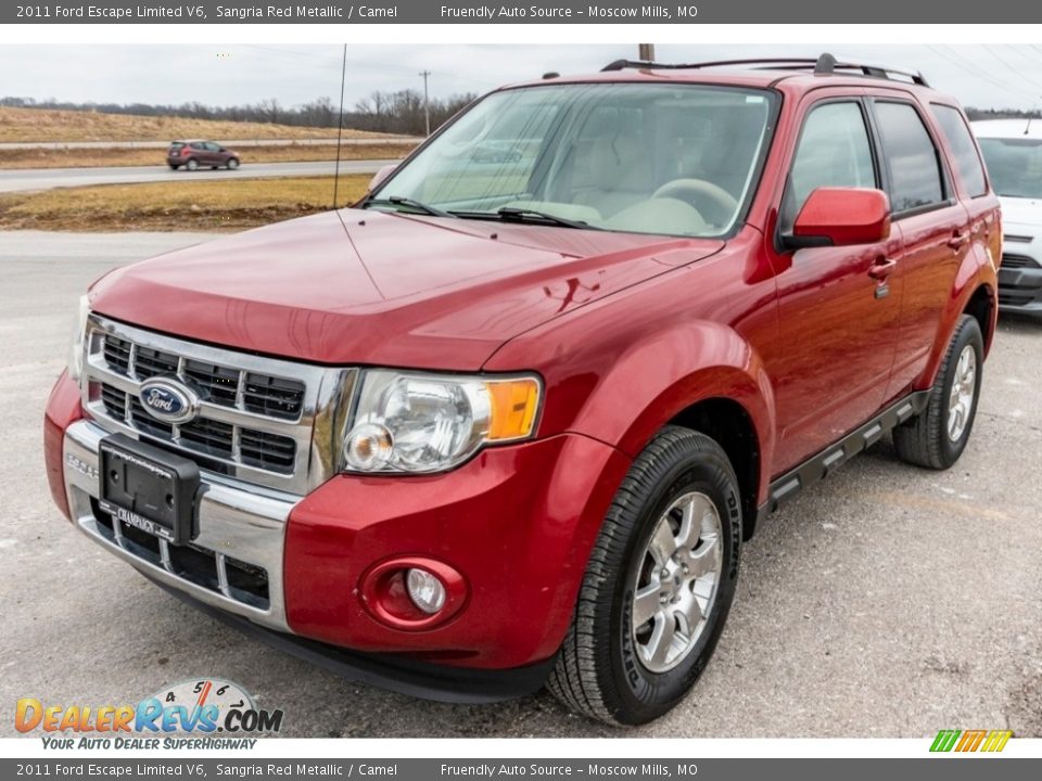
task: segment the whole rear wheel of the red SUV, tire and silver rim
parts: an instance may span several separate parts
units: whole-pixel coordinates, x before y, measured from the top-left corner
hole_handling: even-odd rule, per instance
[[[893,430],[898,456],[929,469],[948,469],[963,454],[977,417],[984,340],[976,318],[964,315],[944,354],[926,409]]]

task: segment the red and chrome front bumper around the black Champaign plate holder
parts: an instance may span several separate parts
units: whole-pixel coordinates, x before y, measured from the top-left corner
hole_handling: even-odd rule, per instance
[[[391,677],[425,663],[514,670],[528,686],[521,668],[542,669],[555,656],[630,466],[614,448],[568,434],[490,448],[443,475],[340,475],[303,498],[204,472],[199,534],[190,547],[167,546],[98,508],[98,447],[107,432],[79,417],[69,386],[63,377],[55,387],[45,440],[55,498],[67,501],[79,532],[165,588],[274,637],[383,654]],[[403,555],[462,574],[458,613],[422,630],[381,620],[363,584]],[[263,588],[244,586],[244,572],[249,586]]]

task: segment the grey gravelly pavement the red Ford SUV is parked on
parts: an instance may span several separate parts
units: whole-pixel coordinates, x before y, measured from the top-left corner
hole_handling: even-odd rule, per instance
[[[283,708],[294,737],[1042,737],[1042,325],[1002,323],[955,469],[901,465],[881,443],[771,518],[694,695],[626,733],[542,693],[465,707],[336,678],[183,606],[60,517],[40,422],[76,297],[114,265],[203,239],[0,234],[5,707],[137,702],[214,675]]]

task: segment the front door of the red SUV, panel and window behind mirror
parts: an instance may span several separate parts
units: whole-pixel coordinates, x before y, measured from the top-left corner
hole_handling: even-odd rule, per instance
[[[805,111],[779,207],[783,234],[817,188],[880,188],[866,111],[856,97],[819,100]],[[901,313],[900,251],[894,232],[876,244],[801,248],[776,258],[778,473],[882,406]]]

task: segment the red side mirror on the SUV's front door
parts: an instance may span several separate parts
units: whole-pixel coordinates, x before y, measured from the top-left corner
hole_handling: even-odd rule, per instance
[[[890,238],[890,200],[881,190],[817,188],[806,199],[783,242],[810,246],[876,244]]]

